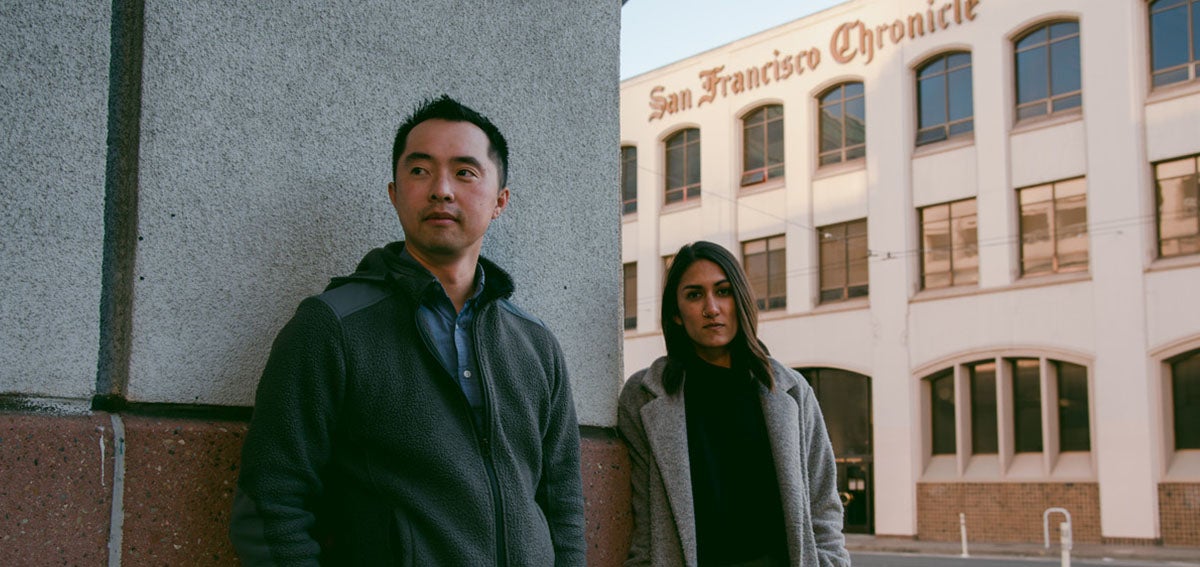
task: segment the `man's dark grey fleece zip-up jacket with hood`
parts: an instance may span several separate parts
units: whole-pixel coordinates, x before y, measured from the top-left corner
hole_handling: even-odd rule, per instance
[[[416,322],[403,243],[305,299],[271,348],[230,537],[247,565],[583,565],[580,437],[557,340],[480,258],[484,422]]]

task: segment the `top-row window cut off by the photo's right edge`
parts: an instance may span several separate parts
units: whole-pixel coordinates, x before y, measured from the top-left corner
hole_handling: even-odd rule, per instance
[[[1150,60],[1154,86],[1200,77],[1200,0],[1150,2]]]

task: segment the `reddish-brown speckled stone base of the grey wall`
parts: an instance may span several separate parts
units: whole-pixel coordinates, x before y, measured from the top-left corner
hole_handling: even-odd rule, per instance
[[[245,422],[121,416],[126,565],[239,565],[229,509]],[[629,547],[629,458],[610,430],[584,428],[588,565]],[[0,549],[18,563],[107,565],[114,425],[108,413],[0,413]]]

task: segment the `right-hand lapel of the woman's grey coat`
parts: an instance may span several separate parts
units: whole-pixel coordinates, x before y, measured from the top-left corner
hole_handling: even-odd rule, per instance
[[[806,509],[808,485],[804,460],[800,459],[800,406],[796,394],[796,376],[787,369],[773,365],[775,389],[760,386],[762,417],[770,438],[770,453],[775,458],[775,476],[779,479],[779,497],[784,505],[784,521],[787,525],[787,547],[796,565],[804,565],[799,556],[803,544],[798,538],[804,519],[797,511]]]

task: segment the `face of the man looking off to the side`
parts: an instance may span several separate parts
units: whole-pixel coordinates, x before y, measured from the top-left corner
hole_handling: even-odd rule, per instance
[[[410,253],[426,262],[479,255],[509,203],[487,136],[470,123],[426,120],[408,133],[388,196]]]

